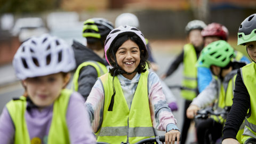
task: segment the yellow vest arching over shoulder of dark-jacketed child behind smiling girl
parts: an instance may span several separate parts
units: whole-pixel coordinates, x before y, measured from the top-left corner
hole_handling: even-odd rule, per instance
[[[72,89],[75,90],[75,91],[78,91],[78,78],[79,78],[79,74],[80,74],[80,70],[83,68],[83,67],[86,67],[86,66],[92,66],[96,69],[97,73],[98,73],[98,77],[106,74],[108,72],[107,70],[107,67],[105,65],[103,65],[102,63],[100,62],[96,62],[96,61],[85,61],[83,63],[81,63],[77,69],[76,69],[76,72],[73,76],[73,85],[72,85]]]

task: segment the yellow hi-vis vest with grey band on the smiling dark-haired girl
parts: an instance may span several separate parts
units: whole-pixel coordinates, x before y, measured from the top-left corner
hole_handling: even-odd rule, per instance
[[[119,79],[115,76],[115,99],[113,111],[108,111],[111,96],[113,95],[113,77],[107,73],[100,77],[104,87],[105,101],[103,121],[100,130],[96,133],[97,141],[108,143],[130,143],[154,137],[154,128],[151,121],[148,100],[148,73],[141,73],[137,89],[134,93],[131,109],[127,106]]]

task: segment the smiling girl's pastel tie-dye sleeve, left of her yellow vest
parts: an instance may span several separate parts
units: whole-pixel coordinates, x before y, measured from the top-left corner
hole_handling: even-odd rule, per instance
[[[89,112],[89,115],[90,115],[93,132],[98,131],[99,126],[103,120],[101,115],[101,111],[103,111],[103,104],[104,104],[103,85],[100,79],[98,79],[94,84],[94,86],[92,87],[92,91],[85,102],[85,107],[87,108],[87,111]]]

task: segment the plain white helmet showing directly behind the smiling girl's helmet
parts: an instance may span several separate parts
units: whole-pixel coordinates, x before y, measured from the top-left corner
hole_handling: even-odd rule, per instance
[[[139,19],[132,13],[122,13],[118,15],[115,21],[115,27],[126,25],[138,28],[140,26]]]

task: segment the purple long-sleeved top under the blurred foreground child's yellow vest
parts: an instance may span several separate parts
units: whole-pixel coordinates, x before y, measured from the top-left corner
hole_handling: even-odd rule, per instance
[[[26,110],[25,118],[30,140],[37,137],[42,143],[47,143],[47,137],[52,121],[53,105],[39,111],[37,108]],[[67,108],[67,126],[70,143],[96,143],[93,135],[89,115],[84,107],[81,94],[74,92],[70,96]],[[5,107],[0,116],[1,143],[14,142],[15,129],[11,116]]]

